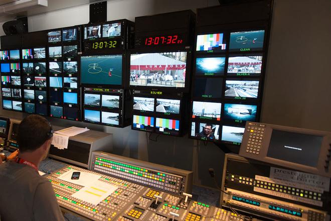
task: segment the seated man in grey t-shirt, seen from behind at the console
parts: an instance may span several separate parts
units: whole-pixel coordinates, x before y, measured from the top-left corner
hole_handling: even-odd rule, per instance
[[[0,220],[64,220],[51,183],[38,174],[51,146],[52,126],[30,115],[18,134],[18,158],[0,165]]]

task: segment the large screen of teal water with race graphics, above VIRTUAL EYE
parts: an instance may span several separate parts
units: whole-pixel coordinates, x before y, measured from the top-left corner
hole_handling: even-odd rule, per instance
[[[83,84],[122,84],[122,55],[95,55],[81,57]]]

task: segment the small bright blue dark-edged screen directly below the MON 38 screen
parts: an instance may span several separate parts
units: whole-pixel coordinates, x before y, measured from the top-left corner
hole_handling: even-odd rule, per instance
[[[250,104],[224,104],[224,119],[234,121],[255,121],[256,105]]]

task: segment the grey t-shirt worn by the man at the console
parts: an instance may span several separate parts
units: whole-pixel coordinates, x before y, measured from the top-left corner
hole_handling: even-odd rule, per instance
[[[0,221],[64,220],[52,184],[34,168],[0,164]]]

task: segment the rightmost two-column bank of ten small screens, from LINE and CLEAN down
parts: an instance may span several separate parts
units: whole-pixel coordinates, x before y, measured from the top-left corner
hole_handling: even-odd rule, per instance
[[[190,138],[240,145],[246,121],[259,121],[264,32],[198,30]]]

